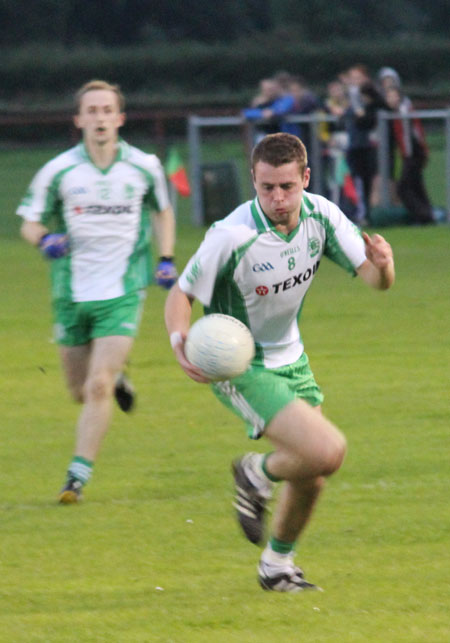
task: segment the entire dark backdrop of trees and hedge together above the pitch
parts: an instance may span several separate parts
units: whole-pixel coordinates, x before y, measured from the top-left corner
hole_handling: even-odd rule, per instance
[[[246,104],[284,69],[320,92],[365,63],[448,96],[448,0],[0,0],[0,109],[66,109],[91,78],[129,105]]]

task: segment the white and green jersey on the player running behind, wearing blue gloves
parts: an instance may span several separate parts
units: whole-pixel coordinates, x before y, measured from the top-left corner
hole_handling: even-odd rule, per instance
[[[36,174],[17,214],[69,236],[70,254],[51,262],[53,299],[100,301],[149,284],[149,213],[168,205],[156,156],[120,141],[101,170],[80,143]]]

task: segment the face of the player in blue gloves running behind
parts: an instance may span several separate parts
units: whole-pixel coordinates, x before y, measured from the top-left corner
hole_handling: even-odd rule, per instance
[[[76,127],[83,130],[86,142],[105,145],[117,140],[119,127],[125,121],[119,99],[108,89],[93,89],[81,97],[80,109],[74,118]]]

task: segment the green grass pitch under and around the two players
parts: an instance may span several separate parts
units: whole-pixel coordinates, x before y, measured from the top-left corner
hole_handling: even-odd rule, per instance
[[[4,221],[49,156],[7,153]],[[448,226],[382,231],[387,293],[326,261],[311,289],[302,332],[349,453],[299,547],[325,591],[303,595],[256,583],[229,468],[267,443],[179,369],[155,287],[132,355],[138,408],[115,412],[85,502],[56,504],[78,408],[50,339],[47,266],[15,226],[0,242],[2,643],[450,640]],[[202,234],[180,226],[180,267]]]

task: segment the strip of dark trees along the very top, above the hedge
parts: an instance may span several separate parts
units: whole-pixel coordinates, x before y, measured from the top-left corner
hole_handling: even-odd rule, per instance
[[[1,46],[230,42],[282,29],[324,38],[448,35],[448,0],[0,0]]]

